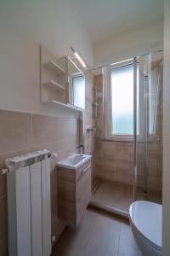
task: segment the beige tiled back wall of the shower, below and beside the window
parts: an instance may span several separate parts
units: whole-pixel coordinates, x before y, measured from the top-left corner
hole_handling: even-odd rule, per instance
[[[102,75],[94,76],[95,88],[102,91]],[[162,99],[161,99],[162,102]],[[121,141],[106,141],[103,139],[102,98],[98,100],[98,114],[95,120],[97,127],[95,137],[95,176],[110,181],[133,184],[133,143]],[[160,108],[161,109],[161,108]],[[162,123],[160,110],[158,121]],[[160,133],[162,127],[160,127]],[[160,136],[161,137],[161,136]],[[138,143],[138,184],[143,186],[144,180],[144,144]],[[148,189],[161,191],[162,183],[162,145],[156,139],[148,143]]]

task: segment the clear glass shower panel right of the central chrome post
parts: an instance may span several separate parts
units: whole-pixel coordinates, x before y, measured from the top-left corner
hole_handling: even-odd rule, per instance
[[[135,200],[161,203],[163,52],[139,57]]]

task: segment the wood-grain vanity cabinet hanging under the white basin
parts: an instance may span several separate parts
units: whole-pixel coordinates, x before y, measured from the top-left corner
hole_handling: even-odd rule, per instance
[[[79,224],[91,198],[91,160],[77,170],[58,167],[58,214],[71,226]]]

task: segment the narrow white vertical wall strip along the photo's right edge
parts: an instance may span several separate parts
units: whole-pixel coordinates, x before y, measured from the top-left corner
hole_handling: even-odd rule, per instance
[[[165,0],[163,83],[163,256],[170,255],[170,1]]]

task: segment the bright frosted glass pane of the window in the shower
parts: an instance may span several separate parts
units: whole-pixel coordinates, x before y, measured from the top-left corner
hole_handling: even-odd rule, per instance
[[[111,69],[111,134],[133,135],[133,64]]]

